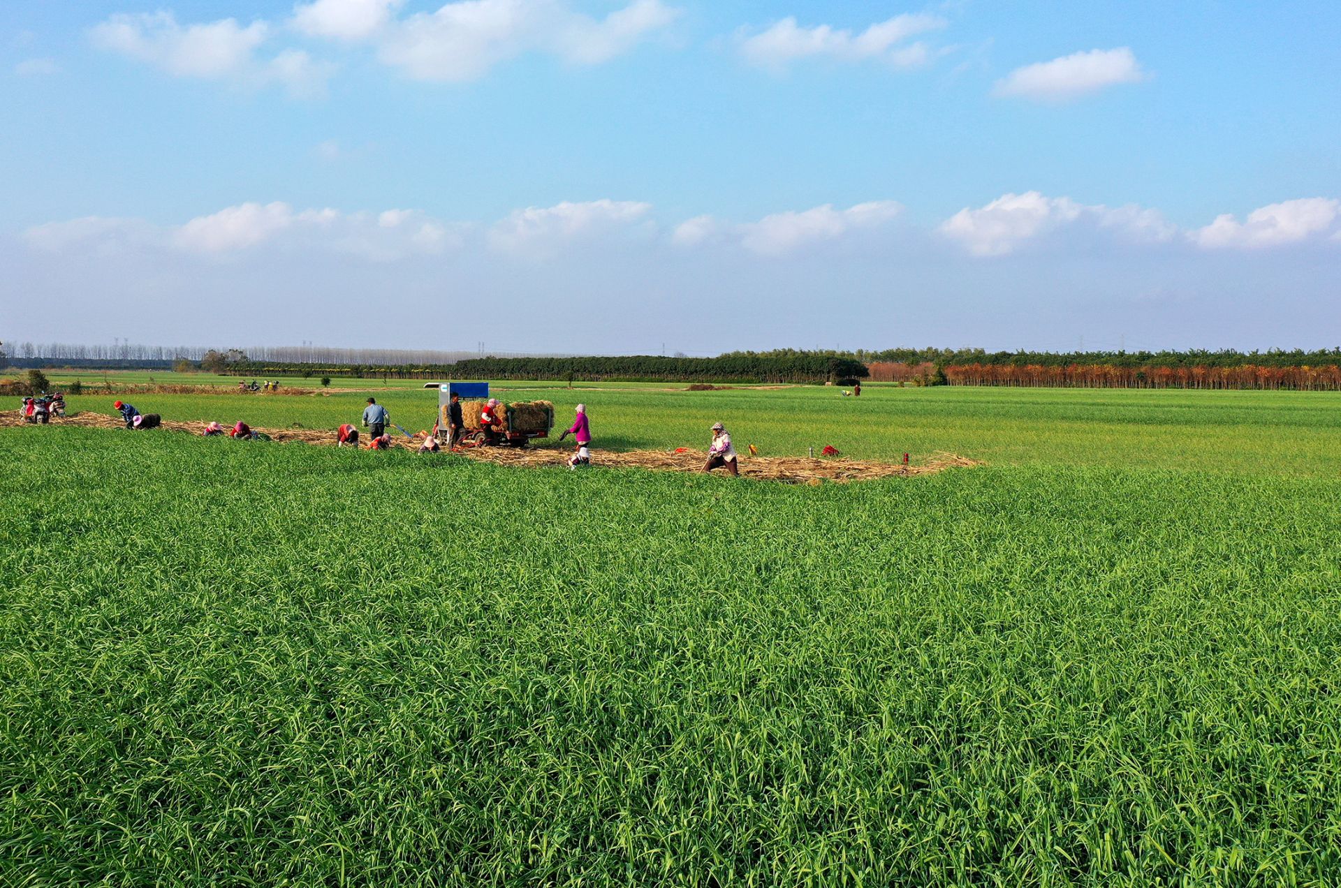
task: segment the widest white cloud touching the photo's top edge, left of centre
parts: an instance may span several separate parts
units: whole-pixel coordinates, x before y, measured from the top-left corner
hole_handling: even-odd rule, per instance
[[[389,25],[378,55],[410,78],[459,83],[528,51],[606,62],[677,16],[660,0],[636,0],[599,21],[565,0],[460,0]]]

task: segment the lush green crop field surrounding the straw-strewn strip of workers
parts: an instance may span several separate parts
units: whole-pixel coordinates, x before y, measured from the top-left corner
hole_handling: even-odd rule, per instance
[[[0,429],[0,881],[1336,883],[1341,397],[532,396],[607,448],[720,419],[988,465],[811,488]],[[334,428],[363,397],[134,402]]]

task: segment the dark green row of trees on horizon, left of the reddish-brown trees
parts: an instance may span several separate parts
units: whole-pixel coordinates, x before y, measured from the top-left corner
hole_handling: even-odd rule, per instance
[[[582,382],[841,382],[865,378],[866,365],[834,351],[732,351],[715,358],[618,355],[468,358],[451,365],[312,366],[237,361],[239,376],[354,376],[359,378],[574,380]]]

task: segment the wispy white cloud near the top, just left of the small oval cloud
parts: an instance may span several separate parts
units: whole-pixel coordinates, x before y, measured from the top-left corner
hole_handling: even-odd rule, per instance
[[[798,59],[827,56],[842,62],[882,59],[898,67],[921,64],[928,50],[921,44],[898,47],[908,38],[945,27],[947,21],[927,13],[898,15],[868,27],[861,34],[827,24],[803,28],[791,16],[767,30],[744,38],[740,54],[760,67],[779,70]]]

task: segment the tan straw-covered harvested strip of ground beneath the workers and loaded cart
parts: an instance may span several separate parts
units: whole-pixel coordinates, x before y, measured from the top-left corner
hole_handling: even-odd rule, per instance
[[[24,425],[17,410],[0,413],[0,428]],[[123,424],[121,420],[103,413],[75,413],[60,420],[52,420],[52,425],[79,425],[86,428],[118,429]],[[177,423],[164,420],[162,428],[176,432],[189,432],[200,435],[204,423]],[[303,444],[335,444],[333,429],[267,429],[257,428],[256,432],[268,435],[271,440],[280,444],[299,441]],[[392,441],[397,447],[413,449],[418,447],[420,439],[393,436]],[[463,448],[453,452],[468,459],[498,463],[502,465],[563,465],[569,457],[567,448]],[[693,472],[703,468],[708,455],[703,451],[662,452],[662,451],[629,451],[613,452],[597,449],[593,453],[597,465],[610,465],[617,468],[644,468],[666,472]],[[849,459],[807,459],[805,456],[752,456],[740,457],[740,474],[746,478],[760,480],[787,482],[791,484],[829,482],[870,480],[876,478],[911,478],[916,475],[933,475],[947,468],[971,468],[982,465],[980,460],[957,456],[955,453],[936,453],[925,463],[902,465],[898,463],[877,463],[872,460]]]

